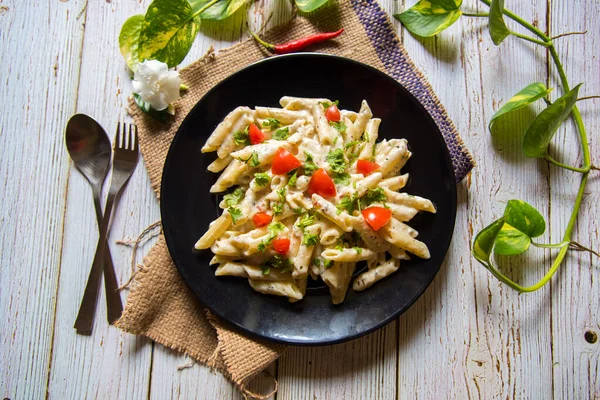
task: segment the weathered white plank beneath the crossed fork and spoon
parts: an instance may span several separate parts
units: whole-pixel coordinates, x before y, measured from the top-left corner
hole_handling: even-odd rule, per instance
[[[117,123],[127,118],[128,93],[124,92],[123,82],[129,80],[116,38],[125,19],[141,9],[137,2],[88,2],[78,21],[81,29],[85,26],[85,37],[77,112],[96,118],[111,139]],[[109,179],[105,190],[108,187]],[[113,215],[109,245],[119,282],[130,275],[131,251],[116,246],[115,240],[136,237],[158,220],[157,204],[140,163]],[[93,335],[77,335],[72,327],[97,240],[91,189],[71,168],[48,393],[51,398],[145,398],[149,391],[151,341],[108,326],[104,288],[98,299]],[[143,246],[140,253],[149,247]]]

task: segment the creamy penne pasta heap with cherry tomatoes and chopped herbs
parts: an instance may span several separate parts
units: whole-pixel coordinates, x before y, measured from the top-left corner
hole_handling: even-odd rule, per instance
[[[358,112],[320,98],[284,96],[280,104],[234,109],[202,147],[218,156],[208,166],[219,173],[210,191],[228,192],[195,244],[214,254],[215,275],[248,279],[290,302],[304,298],[309,276],[320,278],[340,304],[350,287],[362,291],[393,274],[408,253],[429,258],[406,223],[435,206],[399,192],[408,184],[400,175],[408,142],[378,141],[381,120],[366,101]],[[378,215],[389,217],[372,225]],[[367,269],[353,280],[359,262]]]

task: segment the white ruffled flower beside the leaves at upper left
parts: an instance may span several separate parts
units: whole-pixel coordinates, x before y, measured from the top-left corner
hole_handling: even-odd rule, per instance
[[[132,85],[133,93],[139,94],[155,110],[162,111],[179,100],[181,78],[179,72],[169,71],[167,64],[145,60],[137,65]]]

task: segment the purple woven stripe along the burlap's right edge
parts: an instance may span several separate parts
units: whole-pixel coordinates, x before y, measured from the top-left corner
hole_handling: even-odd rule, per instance
[[[351,3],[388,74],[423,104],[438,125],[450,152],[456,182],[460,182],[473,168],[471,156],[425,77],[402,48],[386,12],[376,0],[351,0]]]

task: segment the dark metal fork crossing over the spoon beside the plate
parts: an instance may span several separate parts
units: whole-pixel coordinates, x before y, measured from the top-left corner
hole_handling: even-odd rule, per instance
[[[96,302],[98,299],[98,289],[102,269],[104,266],[104,249],[107,243],[108,228],[110,225],[110,216],[113,211],[115,199],[125,187],[125,184],[131,177],[138,162],[139,146],[137,138],[137,126],[123,123],[121,133],[121,125],[117,125],[117,134],[115,136],[114,158],[113,158],[113,173],[106,200],[106,208],[104,210],[104,218],[100,228],[100,237],[96,246],[96,254],[92,263],[92,270],[88,277],[83,299],[79,306],[77,319],[75,320],[74,328],[77,333],[90,335],[94,325],[94,315],[96,313]],[[104,266],[104,268],[108,268]],[[112,269],[112,268],[111,268]],[[110,281],[116,281],[115,271],[105,271],[109,276]],[[108,310],[108,320],[116,321],[123,312],[120,296],[115,299],[114,296],[106,297],[106,306]]]

